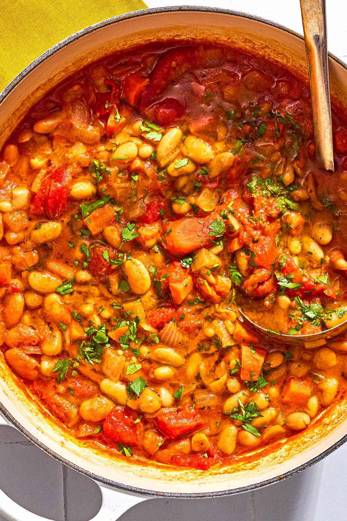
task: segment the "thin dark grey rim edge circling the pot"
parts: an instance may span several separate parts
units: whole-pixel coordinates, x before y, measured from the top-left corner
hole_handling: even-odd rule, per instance
[[[86,27],[85,29],[82,29],[81,31],[75,32],[71,36],[68,36],[68,38],[62,40],[61,42],[57,43],[53,47],[49,48],[47,51],[45,51],[41,56],[38,56],[30,65],[25,67],[22,72],[19,73],[19,75],[12,80],[7,87],[0,93],[0,104],[5,100],[5,98],[12,92],[12,90],[15,89],[15,87],[26,77],[29,75],[31,71],[33,71],[38,65],[41,65],[44,63],[44,61],[49,58],[50,56],[53,56],[55,53],[66,47],[72,42],[75,42],[82,38],[82,36],[85,36],[86,34],[91,34],[94,31],[101,29],[103,27],[107,27],[111,24],[121,22],[123,20],[130,20],[132,18],[138,18],[146,15],[156,15],[161,13],[177,13],[177,12],[184,12],[184,11],[199,11],[199,12],[205,12],[205,13],[217,13],[217,14],[223,14],[223,15],[232,15],[237,16],[241,18],[247,18],[252,21],[261,22],[268,26],[275,27],[277,29],[280,29],[281,31],[287,32],[289,34],[292,34],[293,36],[296,36],[300,40],[304,40],[303,36],[299,34],[296,31],[293,31],[289,29],[286,26],[282,26],[281,24],[278,24],[274,21],[267,20],[265,18],[250,15],[248,13],[241,13],[240,11],[234,11],[232,9],[223,9],[223,8],[217,8],[217,7],[204,7],[204,6],[172,6],[172,7],[153,7],[148,9],[142,9],[138,11],[132,11],[131,13],[126,13],[124,15],[115,16],[112,18],[108,18],[107,20],[103,20],[100,22],[97,22],[93,24],[92,26]],[[335,56],[332,53],[328,53],[328,56],[336,61],[341,67],[343,67],[345,70],[347,70],[347,64],[345,64],[340,58]],[[120,490],[122,492],[129,492],[136,495],[142,495],[142,496],[151,496],[151,497],[163,497],[163,498],[190,498],[190,499],[197,499],[197,498],[216,498],[216,497],[223,497],[228,495],[235,495],[242,492],[250,492],[252,490],[260,489],[263,487],[266,487],[268,485],[272,485],[273,483],[282,481],[286,478],[289,478],[291,476],[294,476],[295,474],[298,474],[301,472],[301,470],[305,470],[306,468],[311,467],[311,465],[314,465],[315,463],[319,462],[320,460],[323,460],[326,456],[337,450],[341,445],[343,445],[347,441],[347,433],[340,438],[338,441],[333,443],[328,449],[321,452],[320,454],[317,454],[311,460],[291,469],[285,472],[284,474],[280,474],[279,476],[274,476],[272,478],[265,479],[263,481],[260,481],[258,483],[253,483],[251,485],[228,489],[228,490],[221,490],[221,491],[211,491],[211,492],[158,492],[154,489],[143,489],[139,487],[134,487],[131,485],[124,485],[124,483],[120,483],[117,481],[113,481],[112,479],[105,478],[103,476],[99,476],[97,474],[94,474],[93,472],[90,472],[89,470],[86,470],[71,461],[66,460],[64,457],[57,454],[55,451],[50,449],[48,446],[46,446],[44,443],[42,443],[40,440],[35,438],[35,436],[32,435],[31,432],[29,432],[27,429],[25,429],[19,421],[11,415],[11,413],[6,409],[6,407],[0,402],[0,412],[10,421],[12,425],[14,425],[25,437],[27,437],[30,441],[32,441],[35,445],[37,445],[40,449],[44,450],[47,454],[52,456],[55,460],[59,461],[60,463],[63,463],[64,465],[67,465],[68,467],[72,468],[73,470],[76,470],[89,478],[92,478],[96,481],[99,481],[100,483],[104,483],[104,485],[108,485],[114,489]]]

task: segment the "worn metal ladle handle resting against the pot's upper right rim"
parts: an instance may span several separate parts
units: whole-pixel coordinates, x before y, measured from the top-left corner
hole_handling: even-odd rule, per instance
[[[334,171],[325,0],[300,0],[311,89],[316,161]]]

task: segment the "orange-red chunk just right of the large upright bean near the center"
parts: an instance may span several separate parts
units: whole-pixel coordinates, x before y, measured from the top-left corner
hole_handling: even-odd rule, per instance
[[[165,278],[166,277],[166,278]],[[174,261],[161,273],[163,290],[170,290],[174,304],[181,304],[193,289],[193,281],[188,269]]]

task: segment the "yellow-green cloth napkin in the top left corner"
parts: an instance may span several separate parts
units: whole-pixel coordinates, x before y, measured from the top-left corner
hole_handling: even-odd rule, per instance
[[[0,92],[37,56],[67,36],[146,7],[142,0],[2,0]]]

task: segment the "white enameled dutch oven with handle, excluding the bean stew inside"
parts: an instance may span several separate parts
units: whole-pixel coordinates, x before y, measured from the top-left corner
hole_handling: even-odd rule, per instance
[[[191,38],[234,45],[283,65],[307,80],[304,41],[284,27],[224,9],[146,9],[111,18],[70,36],[12,81],[0,96],[0,148],[36,101],[81,67],[136,44]],[[347,107],[347,67],[330,56],[329,71],[332,103],[339,110]],[[98,482],[103,504],[94,521],[114,521],[127,508],[149,497],[208,498],[264,487],[293,476],[347,440],[347,399],[342,396],[299,435],[258,449],[254,457],[235,458],[232,466],[202,472],[156,463],[134,464],[133,458],[120,460],[107,452],[86,448],[18,386],[2,355],[0,402],[6,420],[27,438],[56,460]],[[44,521],[1,491],[0,513],[14,521]]]

